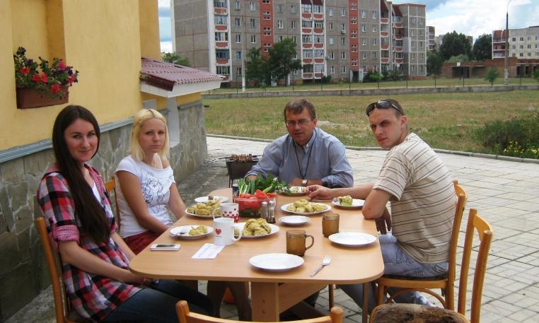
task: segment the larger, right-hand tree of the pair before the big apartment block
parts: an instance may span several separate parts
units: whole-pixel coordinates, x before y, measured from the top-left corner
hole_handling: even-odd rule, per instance
[[[301,69],[301,62],[294,57],[296,57],[296,43],[291,38],[286,37],[281,42],[275,43],[270,49],[270,58],[268,59],[272,78],[276,78],[279,82],[292,71]]]

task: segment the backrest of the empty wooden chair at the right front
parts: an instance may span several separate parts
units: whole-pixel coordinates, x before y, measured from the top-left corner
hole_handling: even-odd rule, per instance
[[[490,243],[492,242],[492,227],[477,214],[477,210],[470,209],[464,240],[463,262],[460,268],[460,283],[458,285],[458,312],[461,315],[465,315],[466,312],[466,288],[468,286],[468,271],[470,269],[470,256],[472,253],[475,231],[477,231],[480,245],[473,274],[471,323],[479,322],[480,318],[481,297],[483,293],[483,283],[485,281],[485,271],[487,269],[487,257],[489,256]]]

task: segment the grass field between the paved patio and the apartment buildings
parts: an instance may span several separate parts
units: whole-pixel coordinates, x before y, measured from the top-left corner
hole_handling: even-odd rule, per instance
[[[476,131],[485,122],[527,117],[539,111],[539,91],[393,95],[405,108],[408,124],[433,148],[492,153]],[[365,107],[379,96],[307,98],[318,127],[345,145],[376,146]],[[291,98],[204,99],[208,134],[275,139],[286,134],[283,109]]]

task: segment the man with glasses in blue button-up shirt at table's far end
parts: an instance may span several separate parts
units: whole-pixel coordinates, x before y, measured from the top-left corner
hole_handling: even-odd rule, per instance
[[[283,114],[288,134],[270,143],[247,175],[272,174],[291,186],[351,187],[354,179],[346,149],[335,136],[316,127],[313,104],[291,100]]]

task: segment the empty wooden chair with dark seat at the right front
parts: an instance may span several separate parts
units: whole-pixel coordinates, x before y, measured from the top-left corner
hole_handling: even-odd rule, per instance
[[[473,274],[472,303],[470,319],[465,317],[466,296],[468,287],[468,271],[470,269],[470,257],[474,248],[474,233],[479,237],[479,250],[475,261]],[[481,298],[485,271],[487,269],[487,257],[490,243],[492,242],[492,227],[481,218],[475,209],[470,209],[468,225],[464,241],[463,260],[460,268],[460,283],[458,284],[458,313],[454,310],[446,310],[440,307],[414,305],[414,304],[384,304],[374,308],[371,314],[371,323],[398,323],[398,322],[480,322]],[[477,245],[475,246],[477,248]],[[443,315],[443,316],[441,316]],[[457,317],[458,316],[458,317]],[[413,317],[414,320],[411,320]],[[444,317],[444,320],[441,319]]]

